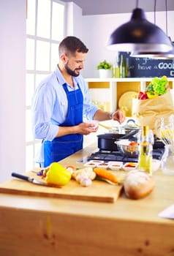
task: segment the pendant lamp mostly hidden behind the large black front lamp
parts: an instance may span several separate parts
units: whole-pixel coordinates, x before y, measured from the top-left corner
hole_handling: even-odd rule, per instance
[[[167,33],[167,0],[165,0],[165,13],[166,13],[166,34]],[[154,23],[156,23],[156,1],[154,4]],[[169,37],[170,39],[170,37]],[[174,42],[171,41],[171,44],[173,45],[173,49],[167,52],[159,52],[159,51],[154,51],[151,53],[144,53],[144,52],[138,52],[134,51],[130,54],[131,57],[136,57],[136,58],[150,58],[150,59],[174,59]]]

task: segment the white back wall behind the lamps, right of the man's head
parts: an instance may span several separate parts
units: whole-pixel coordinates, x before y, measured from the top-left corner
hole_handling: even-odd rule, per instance
[[[148,21],[154,23],[154,12],[145,13]],[[156,26],[166,32],[165,12],[156,12]],[[174,12],[167,12],[168,35],[174,40],[173,30]],[[86,68],[83,75],[86,78],[98,78],[99,71],[96,69],[99,61],[107,59],[111,63],[116,61],[116,52],[106,48],[107,38],[122,23],[126,23],[131,18],[131,13],[116,15],[86,15],[83,16],[82,38],[89,48],[86,59]]]

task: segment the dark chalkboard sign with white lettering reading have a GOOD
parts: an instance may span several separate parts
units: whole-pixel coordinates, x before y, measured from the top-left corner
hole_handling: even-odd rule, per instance
[[[174,59],[149,59],[131,57],[129,52],[118,52],[118,60],[124,56],[129,78],[154,78],[166,75],[174,78]]]

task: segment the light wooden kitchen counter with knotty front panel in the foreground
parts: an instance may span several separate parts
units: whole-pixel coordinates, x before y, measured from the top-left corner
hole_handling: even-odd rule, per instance
[[[82,167],[77,160],[95,150],[94,143],[61,164]],[[1,193],[1,256],[174,255],[174,220],[158,217],[174,203],[174,176],[158,170],[154,178],[148,197],[122,192],[116,203]]]

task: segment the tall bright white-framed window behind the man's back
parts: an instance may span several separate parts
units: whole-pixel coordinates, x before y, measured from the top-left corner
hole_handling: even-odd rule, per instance
[[[27,0],[26,20],[26,170],[37,165],[40,140],[31,129],[31,99],[39,81],[58,64],[58,45],[64,38],[64,3]]]

